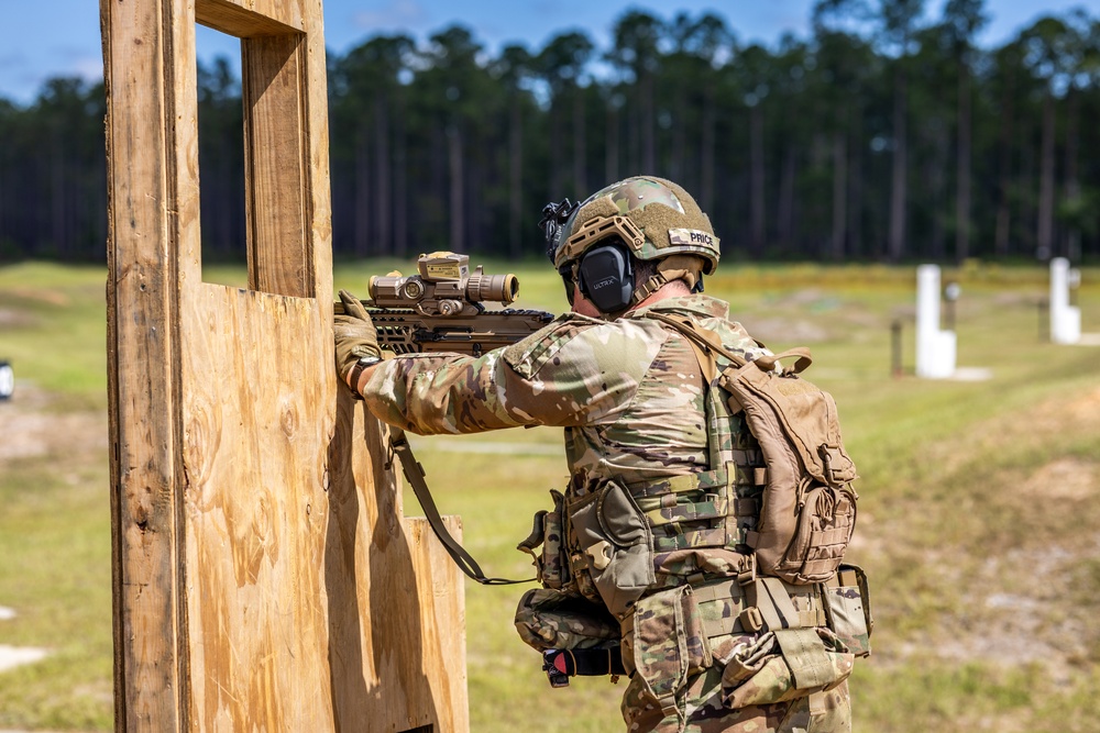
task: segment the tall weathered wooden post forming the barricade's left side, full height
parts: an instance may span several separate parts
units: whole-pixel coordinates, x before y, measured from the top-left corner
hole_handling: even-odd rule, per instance
[[[194,24],[184,3],[105,0],[109,162],[108,369],[116,720],[119,730],[187,724],[179,562],[178,251],[197,236]],[[187,49],[190,49],[188,66]],[[182,58],[178,58],[179,54]],[[177,68],[178,67],[178,68]],[[180,76],[183,78],[180,78]],[[180,165],[182,160],[185,165]]]

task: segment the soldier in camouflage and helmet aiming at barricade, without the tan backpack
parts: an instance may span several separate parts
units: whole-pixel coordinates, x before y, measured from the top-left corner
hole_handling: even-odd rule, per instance
[[[816,586],[745,582],[759,452],[708,384],[713,363],[708,371],[697,345],[661,320],[686,319],[749,360],[768,354],[702,293],[718,264],[708,218],[653,177],[613,184],[568,213],[548,238],[572,313],[480,357],[381,362],[365,309],[342,292],[341,378],[380,420],[415,433],[564,429],[571,480],[546,522],[561,531],[527,543],[546,589],[524,597],[517,626],[543,649],[622,641],[628,731],[850,730],[847,649],[827,642],[807,662],[750,613],[785,588],[769,608],[802,614],[811,633],[825,626]]]

